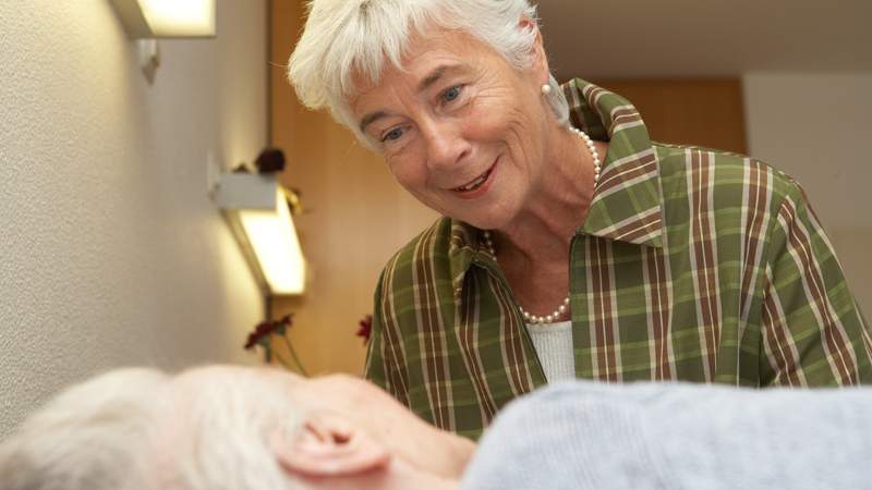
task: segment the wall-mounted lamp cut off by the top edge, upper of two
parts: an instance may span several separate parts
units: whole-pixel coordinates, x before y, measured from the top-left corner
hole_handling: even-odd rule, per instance
[[[133,39],[215,37],[215,0],[111,0]]]

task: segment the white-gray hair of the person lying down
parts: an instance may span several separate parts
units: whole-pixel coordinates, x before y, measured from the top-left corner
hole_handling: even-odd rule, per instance
[[[61,393],[0,445],[0,488],[296,488],[269,448],[277,427],[291,433],[301,424],[287,397],[253,392],[261,384],[240,377],[179,403],[170,379],[123,369]],[[246,403],[252,396],[258,403]]]

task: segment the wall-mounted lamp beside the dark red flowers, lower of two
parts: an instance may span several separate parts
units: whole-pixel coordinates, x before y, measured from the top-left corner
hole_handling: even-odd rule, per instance
[[[225,173],[215,194],[261,287],[272,295],[305,291],[305,258],[284,193],[275,174]]]

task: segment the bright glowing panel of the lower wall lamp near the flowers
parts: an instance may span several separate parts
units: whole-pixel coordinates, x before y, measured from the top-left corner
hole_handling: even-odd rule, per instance
[[[305,289],[303,250],[281,191],[276,199],[276,211],[243,209],[239,218],[271,293],[301,294]]]

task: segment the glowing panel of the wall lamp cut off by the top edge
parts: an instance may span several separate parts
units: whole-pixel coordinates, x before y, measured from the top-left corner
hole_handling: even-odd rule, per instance
[[[140,0],[157,37],[215,35],[215,0]]]

